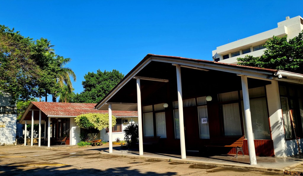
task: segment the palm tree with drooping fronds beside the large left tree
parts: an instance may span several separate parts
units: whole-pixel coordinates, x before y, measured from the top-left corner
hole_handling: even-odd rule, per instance
[[[71,78],[73,78],[74,82],[76,81],[76,75],[74,71],[72,71],[69,67],[64,67],[66,64],[68,64],[72,59],[71,58],[63,58],[63,56],[56,55],[56,64],[58,65],[59,72],[58,72],[58,78],[55,78],[56,83],[58,83],[59,87],[64,90],[64,86],[67,86],[68,93],[71,93],[74,88],[72,86]],[[53,102],[57,101],[57,92],[55,92],[53,95]]]

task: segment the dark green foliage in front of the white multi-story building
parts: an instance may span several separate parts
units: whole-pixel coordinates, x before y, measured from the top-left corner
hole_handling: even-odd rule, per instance
[[[238,65],[285,70],[303,74],[303,31],[289,39],[287,36],[268,39],[267,50],[261,57],[246,55],[238,58]]]

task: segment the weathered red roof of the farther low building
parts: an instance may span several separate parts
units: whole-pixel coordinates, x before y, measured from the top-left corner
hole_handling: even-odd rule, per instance
[[[58,116],[78,116],[88,113],[108,113],[106,110],[94,109],[94,103],[58,103],[58,102],[31,102],[45,115],[58,115]],[[114,116],[138,116],[137,111],[112,111]]]

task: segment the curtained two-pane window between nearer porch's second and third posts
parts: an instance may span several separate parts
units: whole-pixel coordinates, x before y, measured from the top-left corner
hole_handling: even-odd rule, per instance
[[[166,122],[164,103],[143,106],[144,137],[160,136],[166,138]]]

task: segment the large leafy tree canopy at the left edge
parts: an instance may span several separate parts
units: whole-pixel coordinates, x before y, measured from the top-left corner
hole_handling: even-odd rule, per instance
[[[72,90],[69,76],[75,81],[75,74],[64,67],[71,59],[55,55],[53,47],[46,38],[33,40],[0,25],[0,93],[11,93],[14,101],[42,96],[47,101],[47,94],[59,95],[63,84]]]

